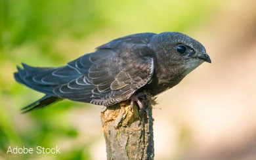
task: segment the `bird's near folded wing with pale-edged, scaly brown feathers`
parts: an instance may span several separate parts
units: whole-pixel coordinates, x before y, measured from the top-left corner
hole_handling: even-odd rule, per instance
[[[109,106],[128,99],[150,81],[154,60],[146,45],[129,49],[98,49],[68,63],[81,76],[56,87],[54,93],[70,100]]]

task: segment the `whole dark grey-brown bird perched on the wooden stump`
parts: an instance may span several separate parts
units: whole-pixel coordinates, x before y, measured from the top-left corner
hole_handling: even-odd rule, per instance
[[[203,62],[211,63],[205,47],[183,33],[136,33],[100,45],[64,66],[39,68],[22,63],[14,79],[45,94],[22,108],[44,108],[69,99],[112,106],[125,100],[140,102],[144,91],[156,96],[171,89]]]

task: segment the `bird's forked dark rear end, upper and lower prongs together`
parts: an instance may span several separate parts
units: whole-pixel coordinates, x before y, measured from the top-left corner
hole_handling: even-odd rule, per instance
[[[43,98],[22,108],[22,113],[44,108],[49,104],[62,100],[62,98],[54,94],[54,88],[81,76],[76,70],[66,66],[59,68],[38,68],[22,63],[22,67],[17,66],[18,71],[14,73],[16,81],[45,94]],[[54,71],[56,72],[55,75],[53,75]]]

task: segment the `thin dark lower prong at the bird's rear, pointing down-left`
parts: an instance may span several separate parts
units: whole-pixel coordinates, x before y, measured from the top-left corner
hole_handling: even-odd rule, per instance
[[[27,113],[29,111],[37,110],[40,108],[44,108],[45,106],[48,106],[49,104],[52,104],[53,102],[56,102],[58,100],[62,100],[62,98],[58,98],[56,96],[51,95],[45,95],[43,98],[33,102],[32,104],[26,106],[25,108],[22,108],[22,113]]]

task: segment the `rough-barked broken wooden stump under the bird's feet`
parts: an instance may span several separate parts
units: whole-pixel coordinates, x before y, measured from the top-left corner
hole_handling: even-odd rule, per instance
[[[102,111],[107,159],[154,159],[152,105],[156,102],[144,93],[142,104],[142,111],[137,106],[131,109],[129,100]]]

